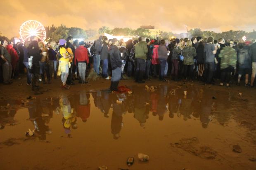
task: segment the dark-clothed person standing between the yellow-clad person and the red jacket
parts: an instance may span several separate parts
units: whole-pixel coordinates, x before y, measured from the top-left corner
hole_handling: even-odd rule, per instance
[[[69,76],[66,80],[66,84],[73,85],[73,60],[74,60],[74,54],[75,54],[75,47],[73,47],[73,37],[69,36],[66,40],[66,51],[68,52],[69,56],[71,57],[69,59],[70,67],[69,67]]]

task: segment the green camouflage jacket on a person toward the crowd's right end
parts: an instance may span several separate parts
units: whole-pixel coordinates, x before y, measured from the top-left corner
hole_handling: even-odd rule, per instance
[[[228,68],[228,66],[236,67],[237,65],[237,52],[232,47],[224,47],[219,54],[220,70]]]

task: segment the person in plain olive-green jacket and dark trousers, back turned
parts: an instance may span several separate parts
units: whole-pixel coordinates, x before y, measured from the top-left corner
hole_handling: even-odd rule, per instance
[[[136,79],[137,83],[145,83],[143,76],[146,70],[147,62],[147,42],[145,37],[141,37],[141,41],[135,46],[135,58],[136,58]]]

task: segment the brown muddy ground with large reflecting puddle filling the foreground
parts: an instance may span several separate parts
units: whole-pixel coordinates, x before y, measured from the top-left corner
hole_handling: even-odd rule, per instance
[[[213,88],[129,88],[0,99],[0,170],[256,169],[255,101]]]

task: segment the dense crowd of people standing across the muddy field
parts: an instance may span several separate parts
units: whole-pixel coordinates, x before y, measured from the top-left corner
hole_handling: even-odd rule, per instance
[[[111,91],[118,91],[120,79],[145,80],[166,77],[174,81],[202,81],[205,84],[230,86],[232,77],[237,85],[254,86],[256,75],[256,41],[240,42],[213,37],[192,37],[171,40],[138,40],[100,36],[94,42],[73,41],[69,36],[59,42],[44,43],[36,36],[23,43],[1,41],[0,81],[12,84],[26,68],[27,85],[41,93],[38,80],[50,84],[61,76],[62,88],[69,89],[76,78],[88,83],[86,77],[93,68],[98,76],[111,79]],[[93,66],[92,66],[93,65]],[[46,81],[46,78],[47,81]],[[249,81],[250,80],[250,81]]]

